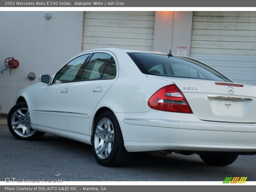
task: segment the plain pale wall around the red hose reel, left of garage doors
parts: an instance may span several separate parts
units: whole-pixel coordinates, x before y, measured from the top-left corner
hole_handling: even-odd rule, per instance
[[[1,113],[8,113],[16,94],[38,82],[41,74],[53,74],[68,59],[82,51],[84,12],[0,12],[0,71],[7,57],[20,66],[0,73]],[[34,72],[36,79],[28,80]]]

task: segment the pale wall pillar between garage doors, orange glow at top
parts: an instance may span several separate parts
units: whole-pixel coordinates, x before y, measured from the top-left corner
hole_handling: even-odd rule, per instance
[[[177,54],[178,46],[190,52],[192,11],[157,11],[155,20],[154,51]]]

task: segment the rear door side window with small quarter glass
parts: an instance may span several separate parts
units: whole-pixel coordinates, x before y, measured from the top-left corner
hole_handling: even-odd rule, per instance
[[[108,53],[94,53],[86,64],[80,80],[115,78],[116,63]]]

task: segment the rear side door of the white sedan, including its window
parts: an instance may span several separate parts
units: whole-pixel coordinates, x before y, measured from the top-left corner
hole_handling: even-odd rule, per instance
[[[92,113],[116,80],[117,60],[110,52],[94,52],[84,66],[80,81],[69,87],[68,131],[89,135]]]

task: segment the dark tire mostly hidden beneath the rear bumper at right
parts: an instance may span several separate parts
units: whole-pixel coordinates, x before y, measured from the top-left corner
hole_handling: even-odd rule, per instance
[[[204,154],[200,155],[204,163],[209,165],[225,166],[230,165],[236,161],[237,154]]]

